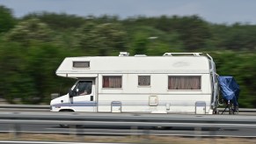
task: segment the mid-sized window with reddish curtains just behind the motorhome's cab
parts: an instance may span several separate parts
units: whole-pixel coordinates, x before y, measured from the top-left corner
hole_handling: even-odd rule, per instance
[[[103,76],[103,88],[121,88],[121,76]]]

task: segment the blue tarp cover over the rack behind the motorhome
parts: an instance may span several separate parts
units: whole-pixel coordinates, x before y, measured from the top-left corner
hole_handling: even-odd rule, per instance
[[[234,105],[238,105],[239,85],[233,76],[219,76],[219,86],[223,94],[223,99],[230,100]]]

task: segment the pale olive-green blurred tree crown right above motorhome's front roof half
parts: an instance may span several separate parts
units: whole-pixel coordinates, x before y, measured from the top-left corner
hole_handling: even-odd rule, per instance
[[[76,37],[77,46],[87,54],[109,55],[128,47],[127,32],[120,24],[90,22],[78,30]]]

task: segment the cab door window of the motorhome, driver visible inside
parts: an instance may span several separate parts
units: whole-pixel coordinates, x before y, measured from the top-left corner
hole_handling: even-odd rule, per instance
[[[91,94],[91,86],[92,86],[91,81],[79,81],[75,87],[77,96]]]

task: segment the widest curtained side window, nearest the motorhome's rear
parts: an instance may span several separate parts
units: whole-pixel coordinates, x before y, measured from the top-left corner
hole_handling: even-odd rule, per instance
[[[201,76],[168,76],[168,90],[201,90]]]

